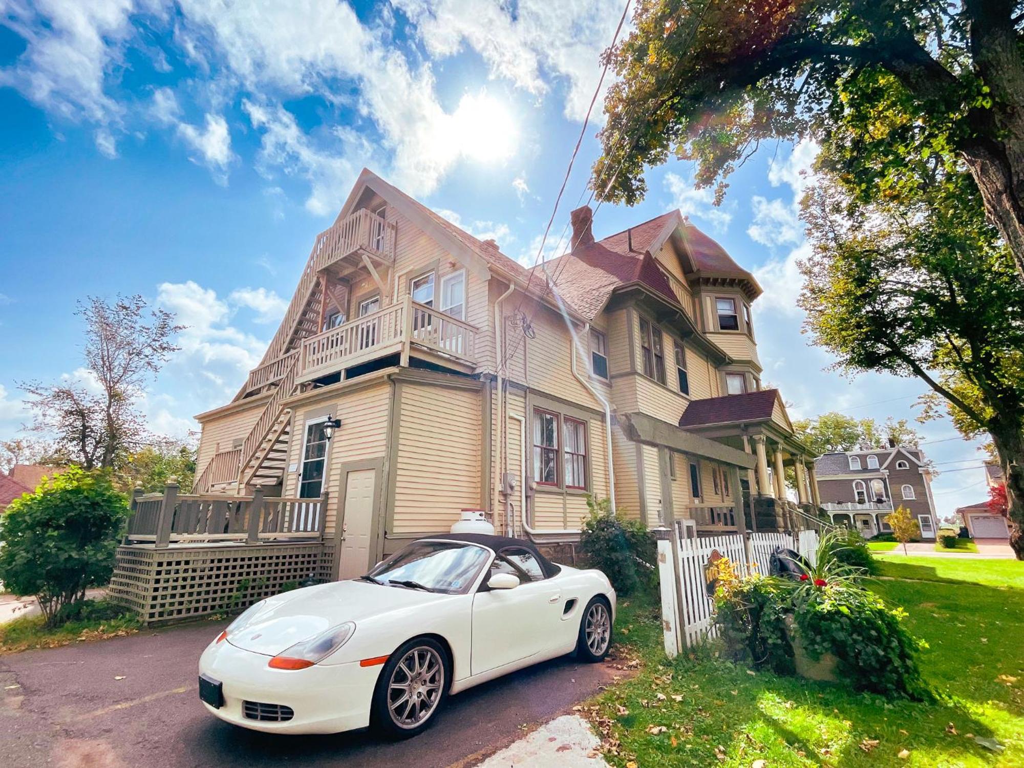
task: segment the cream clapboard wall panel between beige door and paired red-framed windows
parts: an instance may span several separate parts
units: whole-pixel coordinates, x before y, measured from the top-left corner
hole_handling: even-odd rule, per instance
[[[480,505],[480,392],[403,384],[388,534],[447,530]]]

